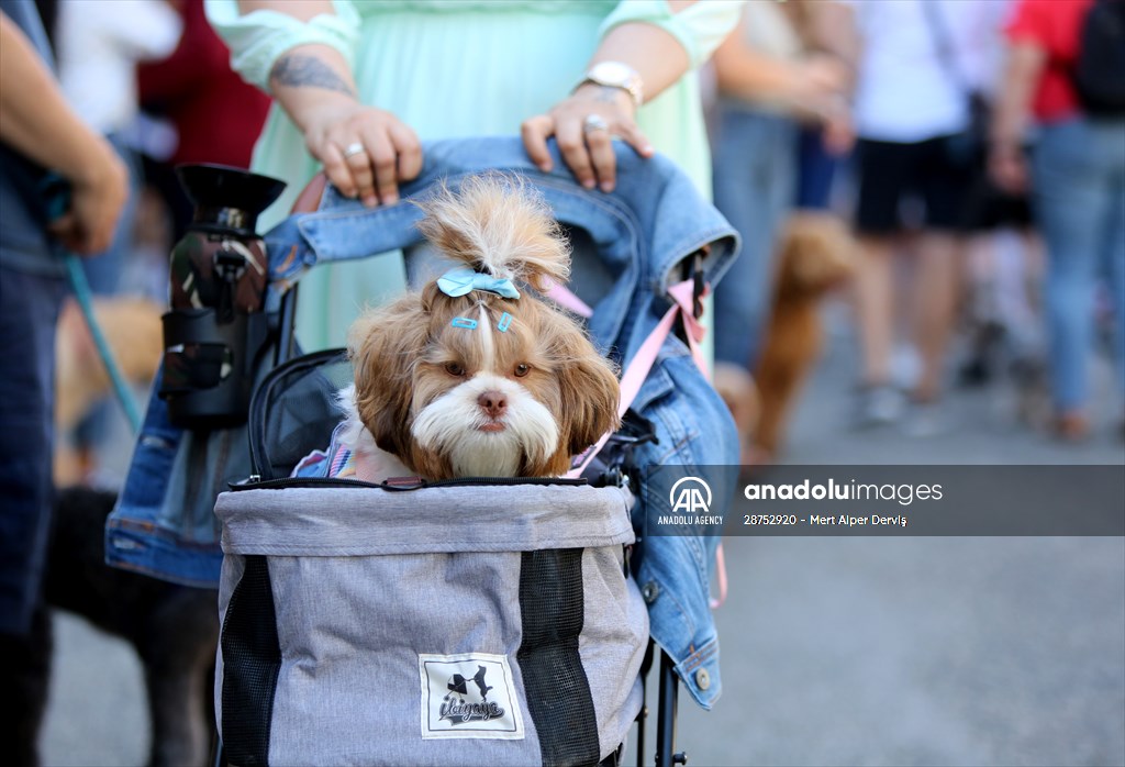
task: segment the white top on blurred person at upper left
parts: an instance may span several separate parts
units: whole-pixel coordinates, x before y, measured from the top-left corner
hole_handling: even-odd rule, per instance
[[[169,56],[182,26],[163,0],[60,0],[55,54],[66,100],[94,130],[128,127],[137,62]]]

